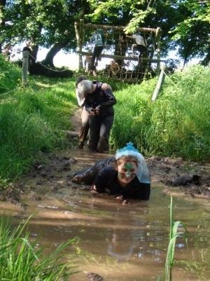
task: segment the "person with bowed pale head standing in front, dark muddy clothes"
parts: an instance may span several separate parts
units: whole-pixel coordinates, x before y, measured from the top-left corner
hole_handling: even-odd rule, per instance
[[[116,98],[111,89],[102,89],[101,83],[83,80],[78,83],[80,99],[84,99],[85,110],[90,114],[90,151],[107,153],[109,151],[109,135],[113,124]]]

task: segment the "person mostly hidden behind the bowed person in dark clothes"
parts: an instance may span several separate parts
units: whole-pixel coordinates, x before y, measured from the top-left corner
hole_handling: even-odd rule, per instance
[[[84,75],[80,75],[78,76],[78,78],[76,79],[76,98],[78,101],[78,105],[80,107],[82,107],[82,114],[81,114],[81,127],[80,127],[80,131],[79,131],[79,143],[78,143],[78,149],[83,149],[84,145],[85,145],[85,141],[87,139],[87,135],[88,135],[88,131],[89,131],[89,117],[90,117],[90,113],[88,111],[85,110],[84,107],[84,102],[85,99],[83,97],[83,95],[80,95],[80,92],[77,88],[78,83],[80,83],[83,80],[87,80],[87,77]],[[92,83],[94,84],[98,84],[102,87],[102,90],[107,90],[107,89],[111,89],[111,85],[107,84],[107,83],[102,83],[99,81],[92,81]]]

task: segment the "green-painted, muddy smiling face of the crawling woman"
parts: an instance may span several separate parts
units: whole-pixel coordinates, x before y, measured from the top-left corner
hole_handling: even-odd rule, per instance
[[[117,165],[118,179],[124,184],[129,184],[137,174],[137,163],[131,160],[122,161]]]

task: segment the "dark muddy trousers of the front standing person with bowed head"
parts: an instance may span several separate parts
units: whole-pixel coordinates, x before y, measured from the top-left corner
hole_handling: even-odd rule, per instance
[[[109,135],[113,124],[113,115],[90,116],[89,149],[101,153],[109,151]]]

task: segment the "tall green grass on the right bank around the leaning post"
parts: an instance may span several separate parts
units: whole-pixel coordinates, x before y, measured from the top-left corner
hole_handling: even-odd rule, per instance
[[[195,66],[167,76],[151,102],[157,79],[116,91],[111,133],[114,149],[132,141],[146,156],[210,158],[210,68]]]

